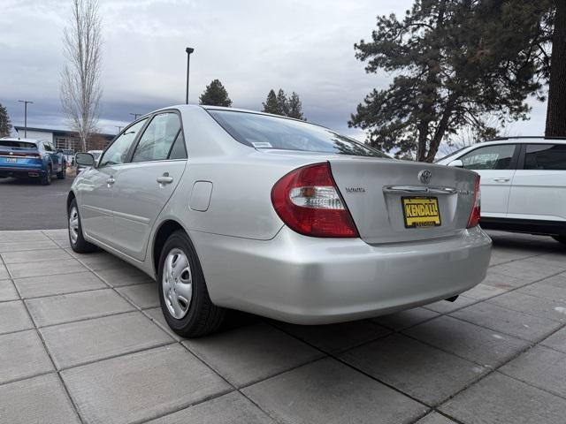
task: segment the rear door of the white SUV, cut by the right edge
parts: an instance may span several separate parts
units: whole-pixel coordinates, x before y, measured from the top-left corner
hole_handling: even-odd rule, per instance
[[[517,168],[508,217],[566,221],[566,144],[525,144]]]

